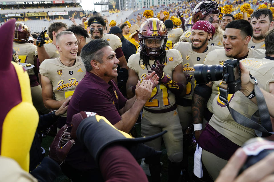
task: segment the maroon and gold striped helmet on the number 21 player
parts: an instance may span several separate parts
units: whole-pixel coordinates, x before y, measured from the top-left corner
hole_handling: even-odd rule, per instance
[[[140,50],[149,57],[165,53],[168,32],[165,24],[158,18],[149,18],[142,23],[139,34]]]

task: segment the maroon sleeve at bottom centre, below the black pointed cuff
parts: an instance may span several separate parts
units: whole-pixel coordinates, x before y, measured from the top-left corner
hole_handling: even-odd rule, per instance
[[[99,167],[106,182],[148,182],[141,166],[130,152],[120,145],[104,149],[99,158]]]

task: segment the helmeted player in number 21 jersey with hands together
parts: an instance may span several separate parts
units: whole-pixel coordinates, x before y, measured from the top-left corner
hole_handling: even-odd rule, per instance
[[[186,93],[186,78],[182,72],[182,56],[178,50],[165,50],[168,33],[158,18],[149,18],[139,30],[140,53],[128,59],[128,97],[133,97],[138,80],[144,80],[146,73],[153,70],[159,76],[159,84],[143,107],[142,136],[150,136],[162,130],[167,150],[169,181],[180,176],[180,162],[183,157],[183,133],[178,116],[175,96]],[[158,61],[157,61],[158,60]],[[151,67],[151,68],[150,68]],[[146,142],[156,150],[160,149],[161,138]],[[153,181],[160,181],[160,156],[147,159]]]

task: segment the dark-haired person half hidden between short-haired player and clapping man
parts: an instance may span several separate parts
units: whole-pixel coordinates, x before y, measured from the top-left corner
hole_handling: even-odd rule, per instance
[[[71,26],[68,27],[67,31],[74,33],[78,41],[77,55],[80,56],[82,48],[86,45],[86,38],[89,38],[88,32],[82,26]]]

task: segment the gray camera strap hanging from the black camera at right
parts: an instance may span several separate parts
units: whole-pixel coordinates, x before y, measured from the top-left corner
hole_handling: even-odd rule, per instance
[[[250,75],[250,78],[252,78],[255,81],[254,91],[255,91],[257,105],[258,105],[258,110],[252,115],[251,119],[245,117],[244,115],[235,111],[233,108],[229,107],[228,100],[227,100],[228,88],[227,89],[219,88],[220,90],[219,99],[223,103],[225,103],[231,116],[237,123],[245,127],[254,129],[258,137],[261,137],[262,133],[274,134],[272,130],[269,111],[267,109],[267,105],[265,102],[265,98],[263,97],[263,93],[261,92],[261,89],[258,86],[258,81],[252,75]],[[259,124],[260,120],[261,120],[261,124]]]

